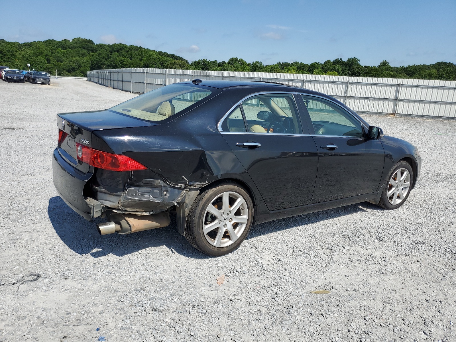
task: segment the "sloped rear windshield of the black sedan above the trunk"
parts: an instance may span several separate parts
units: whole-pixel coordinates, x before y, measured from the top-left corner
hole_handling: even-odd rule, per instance
[[[152,90],[110,110],[142,120],[161,121],[201,101],[212,92],[191,84],[170,84]]]

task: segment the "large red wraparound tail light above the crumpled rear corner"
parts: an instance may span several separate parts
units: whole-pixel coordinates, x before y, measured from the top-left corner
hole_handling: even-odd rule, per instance
[[[78,160],[100,169],[110,171],[147,170],[147,167],[126,155],[95,150],[79,143],[76,143],[76,148]]]

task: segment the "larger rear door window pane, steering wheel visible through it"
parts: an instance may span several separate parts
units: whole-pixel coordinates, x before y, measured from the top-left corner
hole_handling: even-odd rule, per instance
[[[245,100],[242,108],[251,133],[301,133],[292,95],[254,96]]]

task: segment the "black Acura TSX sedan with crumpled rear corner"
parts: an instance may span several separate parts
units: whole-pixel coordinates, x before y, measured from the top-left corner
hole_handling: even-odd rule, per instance
[[[174,83],[103,111],[57,115],[62,199],[100,234],[165,227],[237,249],[253,224],[368,201],[404,204],[415,146],[322,93],[278,83]]]

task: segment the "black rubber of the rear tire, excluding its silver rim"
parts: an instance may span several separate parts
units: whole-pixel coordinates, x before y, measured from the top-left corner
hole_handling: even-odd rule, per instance
[[[247,204],[247,210],[249,211],[249,218],[247,221],[247,226],[244,229],[244,232],[242,235],[238,238],[236,242],[233,244],[230,244],[229,246],[226,247],[215,247],[212,244],[210,244],[206,237],[204,236],[203,233],[203,220],[204,220],[204,215],[206,214],[206,208],[207,206],[216,198],[218,195],[221,195],[223,192],[236,192],[239,195],[241,195],[246,204]],[[200,195],[201,196],[201,195]],[[249,196],[249,193],[246,192],[242,187],[239,187],[235,184],[224,184],[215,188],[212,188],[208,190],[207,192],[204,192],[202,194],[204,198],[202,199],[202,202],[198,205],[197,208],[197,213],[195,215],[195,222],[192,222],[190,225],[191,227],[187,227],[190,229],[196,229],[197,231],[195,232],[194,236],[196,238],[196,243],[197,243],[197,248],[201,250],[203,253],[212,255],[212,256],[220,256],[224,254],[228,254],[233,252],[235,249],[238,249],[240,244],[244,241],[244,239],[249,235],[250,228],[252,227],[253,223],[253,218],[254,218],[254,206],[252,199]]]

